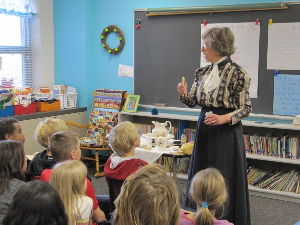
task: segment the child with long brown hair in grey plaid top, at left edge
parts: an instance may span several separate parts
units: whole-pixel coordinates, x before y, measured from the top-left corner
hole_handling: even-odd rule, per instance
[[[25,184],[26,168],[23,144],[13,140],[0,141],[0,224],[13,196]]]

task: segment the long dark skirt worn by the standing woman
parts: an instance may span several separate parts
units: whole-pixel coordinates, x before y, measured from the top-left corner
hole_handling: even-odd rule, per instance
[[[185,205],[194,208],[188,197],[193,176],[200,170],[214,167],[222,173],[229,192],[229,202],[221,219],[235,225],[250,225],[247,166],[241,121],[234,125],[225,123],[208,126],[204,123],[205,113],[208,111],[217,115],[232,112],[224,108],[202,107],[190,161]]]

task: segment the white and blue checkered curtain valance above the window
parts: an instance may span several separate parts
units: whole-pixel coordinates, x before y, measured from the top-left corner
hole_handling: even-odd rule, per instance
[[[23,18],[36,18],[35,0],[0,0],[0,13]]]

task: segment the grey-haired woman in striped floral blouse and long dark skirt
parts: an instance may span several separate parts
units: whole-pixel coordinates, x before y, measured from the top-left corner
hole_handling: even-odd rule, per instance
[[[229,190],[227,214],[222,219],[235,225],[249,225],[247,168],[241,119],[251,112],[250,78],[230,58],[235,48],[234,35],[229,28],[208,29],[201,38],[201,51],[211,65],[195,71],[190,93],[187,93],[186,82],[177,86],[182,103],[187,107],[202,107],[188,186],[199,170],[217,168],[224,176]]]

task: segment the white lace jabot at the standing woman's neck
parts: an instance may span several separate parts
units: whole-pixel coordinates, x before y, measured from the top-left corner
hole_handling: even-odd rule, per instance
[[[209,73],[209,75],[205,75],[206,79],[203,85],[203,89],[205,91],[205,93],[207,94],[208,91],[213,90],[214,88],[216,88],[217,86],[220,85],[221,80],[219,77],[219,69],[218,69],[218,63],[220,63],[221,61],[223,61],[224,59],[226,59],[228,56],[223,56],[222,58],[220,58],[217,62],[213,63],[213,68],[211,70],[211,72]]]

